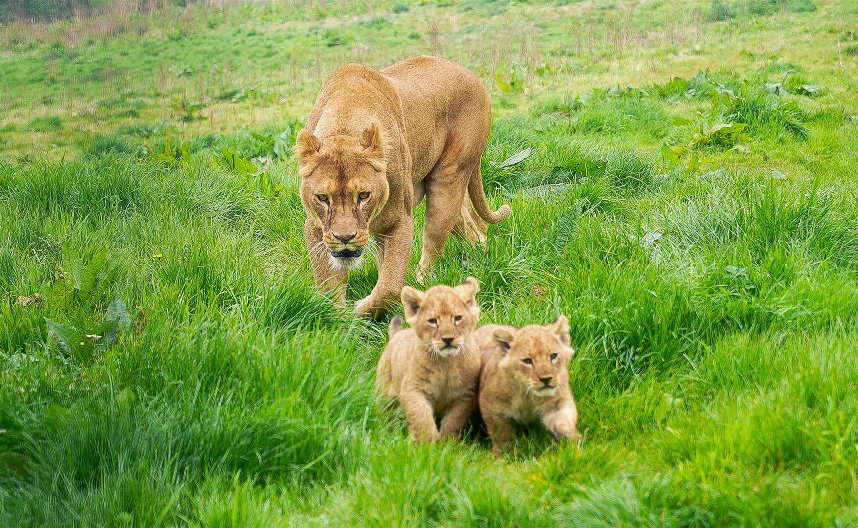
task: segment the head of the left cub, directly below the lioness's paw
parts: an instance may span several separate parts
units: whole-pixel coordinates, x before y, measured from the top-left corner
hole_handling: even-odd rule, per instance
[[[455,356],[480,319],[480,283],[468,277],[461,285],[435,285],[423,291],[402,288],[405,318],[421,341],[439,357]]]

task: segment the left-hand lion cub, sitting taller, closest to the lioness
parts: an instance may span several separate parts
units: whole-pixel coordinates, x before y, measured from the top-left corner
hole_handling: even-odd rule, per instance
[[[480,319],[477,279],[435,285],[426,292],[402,288],[402,317],[390,321],[390,341],[378,360],[378,393],[399,399],[414,441],[456,435],[477,405],[480,355],[472,333]],[[440,425],[436,425],[436,418]]]

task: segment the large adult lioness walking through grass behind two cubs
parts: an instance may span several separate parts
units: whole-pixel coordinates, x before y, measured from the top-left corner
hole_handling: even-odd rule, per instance
[[[412,209],[424,195],[420,282],[455,227],[485,242],[484,221],[496,224],[511,212],[507,205],[492,211],[483,194],[480,156],[491,122],[480,81],[446,59],[411,57],[380,71],[356,63],[337,69],[295,139],[317,285],[335,289],[345,303],[347,270],[360,265],[372,232],[378,282],[354,309],[378,315],[389,308],[405,284]]]

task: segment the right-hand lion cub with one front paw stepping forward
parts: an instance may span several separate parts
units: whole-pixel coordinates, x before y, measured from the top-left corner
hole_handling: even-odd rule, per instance
[[[569,321],[560,315],[546,326],[521,329],[486,325],[474,333],[480,348],[480,414],[498,455],[512,441],[516,424],[541,421],[560,441],[577,441],[578,419],[569,388],[572,350]]]

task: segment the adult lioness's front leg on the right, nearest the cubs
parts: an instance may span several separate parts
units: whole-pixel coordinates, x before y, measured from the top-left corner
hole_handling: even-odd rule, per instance
[[[360,315],[378,316],[398,301],[402,286],[405,285],[413,236],[414,220],[408,216],[379,237],[383,246],[380,252],[382,258],[378,267],[378,282],[368,296],[354,304],[355,312]]]

